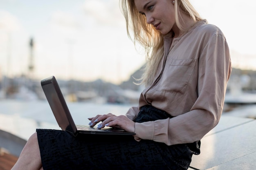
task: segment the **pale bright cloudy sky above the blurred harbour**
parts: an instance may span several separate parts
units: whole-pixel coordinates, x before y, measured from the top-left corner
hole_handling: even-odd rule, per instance
[[[236,68],[256,69],[252,2],[191,0],[202,18],[225,34]],[[141,48],[136,50],[127,36],[119,0],[0,0],[0,76],[119,84],[144,62]]]

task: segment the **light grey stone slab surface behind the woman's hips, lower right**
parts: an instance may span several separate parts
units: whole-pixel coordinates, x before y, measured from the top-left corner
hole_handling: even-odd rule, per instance
[[[189,170],[254,170],[256,120],[222,115],[219,124],[201,140]]]

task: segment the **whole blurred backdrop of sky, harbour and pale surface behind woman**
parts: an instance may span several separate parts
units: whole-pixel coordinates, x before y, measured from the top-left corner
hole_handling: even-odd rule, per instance
[[[227,38],[233,71],[225,114],[256,117],[256,4],[191,0]],[[126,33],[118,0],[0,0],[0,129],[27,139],[58,128],[40,80],[54,75],[76,124],[125,114],[143,87],[145,56]]]

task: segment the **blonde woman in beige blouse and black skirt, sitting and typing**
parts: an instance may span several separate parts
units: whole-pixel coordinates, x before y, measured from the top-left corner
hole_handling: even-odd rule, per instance
[[[225,36],[202,20],[189,0],[121,0],[121,5],[128,35],[132,29],[148,55],[141,78],[146,88],[139,106],[126,115],[97,115],[89,124],[136,135],[88,138],[38,129],[13,170],[186,170],[192,155],[200,154],[200,139],[220,119],[231,73]]]

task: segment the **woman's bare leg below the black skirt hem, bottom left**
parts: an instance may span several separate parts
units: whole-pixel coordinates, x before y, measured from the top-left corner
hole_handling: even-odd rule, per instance
[[[41,168],[41,169],[40,169]],[[37,133],[35,132],[20,153],[18,161],[11,170],[42,170]]]

